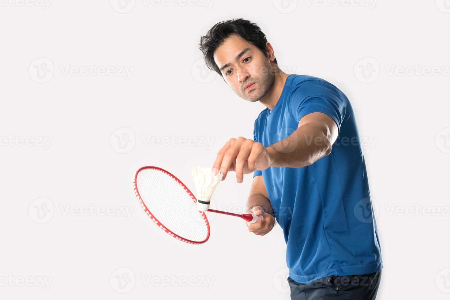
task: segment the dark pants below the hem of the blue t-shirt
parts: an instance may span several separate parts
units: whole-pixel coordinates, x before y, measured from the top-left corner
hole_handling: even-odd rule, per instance
[[[327,276],[302,284],[288,277],[292,300],[374,300],[381,279],[381,270],[365,275]]]

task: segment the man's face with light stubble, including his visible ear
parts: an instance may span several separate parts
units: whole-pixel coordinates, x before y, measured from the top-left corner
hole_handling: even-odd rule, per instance
[[[268,44],[266,57],[255,45],[238,35],[229,36],[214,52],[214,61],[225,82],[239,97],[256,102],[266,95],[275,81],[275,58]]]

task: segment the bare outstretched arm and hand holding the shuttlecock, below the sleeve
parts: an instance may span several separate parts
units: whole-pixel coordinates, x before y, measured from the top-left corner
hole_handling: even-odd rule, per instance
[[[312,112],[302,117],[298,128],[288,138],[267,148],[251,139],[230,139],[217,153],[213,173],[236,171],[238,183],[243,175],[270,166],[300,168],[309,166],[331,153],[331,145],[338,137],[338,125],[322,112]],[[222,179],[222,180],[223,180]]]

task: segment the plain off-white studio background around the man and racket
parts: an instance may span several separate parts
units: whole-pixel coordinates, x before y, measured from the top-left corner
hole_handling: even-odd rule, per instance
[[[211,216],[210,240],[189,245],[132,189],[145,165],[193,189],[192,166],[252,138],[264,107],[207,71],[197,46],[239,17],[285,72],[332,82],[354,107],[385,264],[377,299],[448,299],[448,0],[109,2],[0,0],[2,299],[289,299],[279,226],[259,237]],[[229,176],[216,207],[241,211],[250,183]]]

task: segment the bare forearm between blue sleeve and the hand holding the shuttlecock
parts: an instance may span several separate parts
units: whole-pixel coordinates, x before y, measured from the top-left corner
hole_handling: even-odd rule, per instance
[[[272,158],[271,166],[300,168],[329,155],[334,140],[327,127],[312,122],[297,128],[288,138],[266,150]]]

